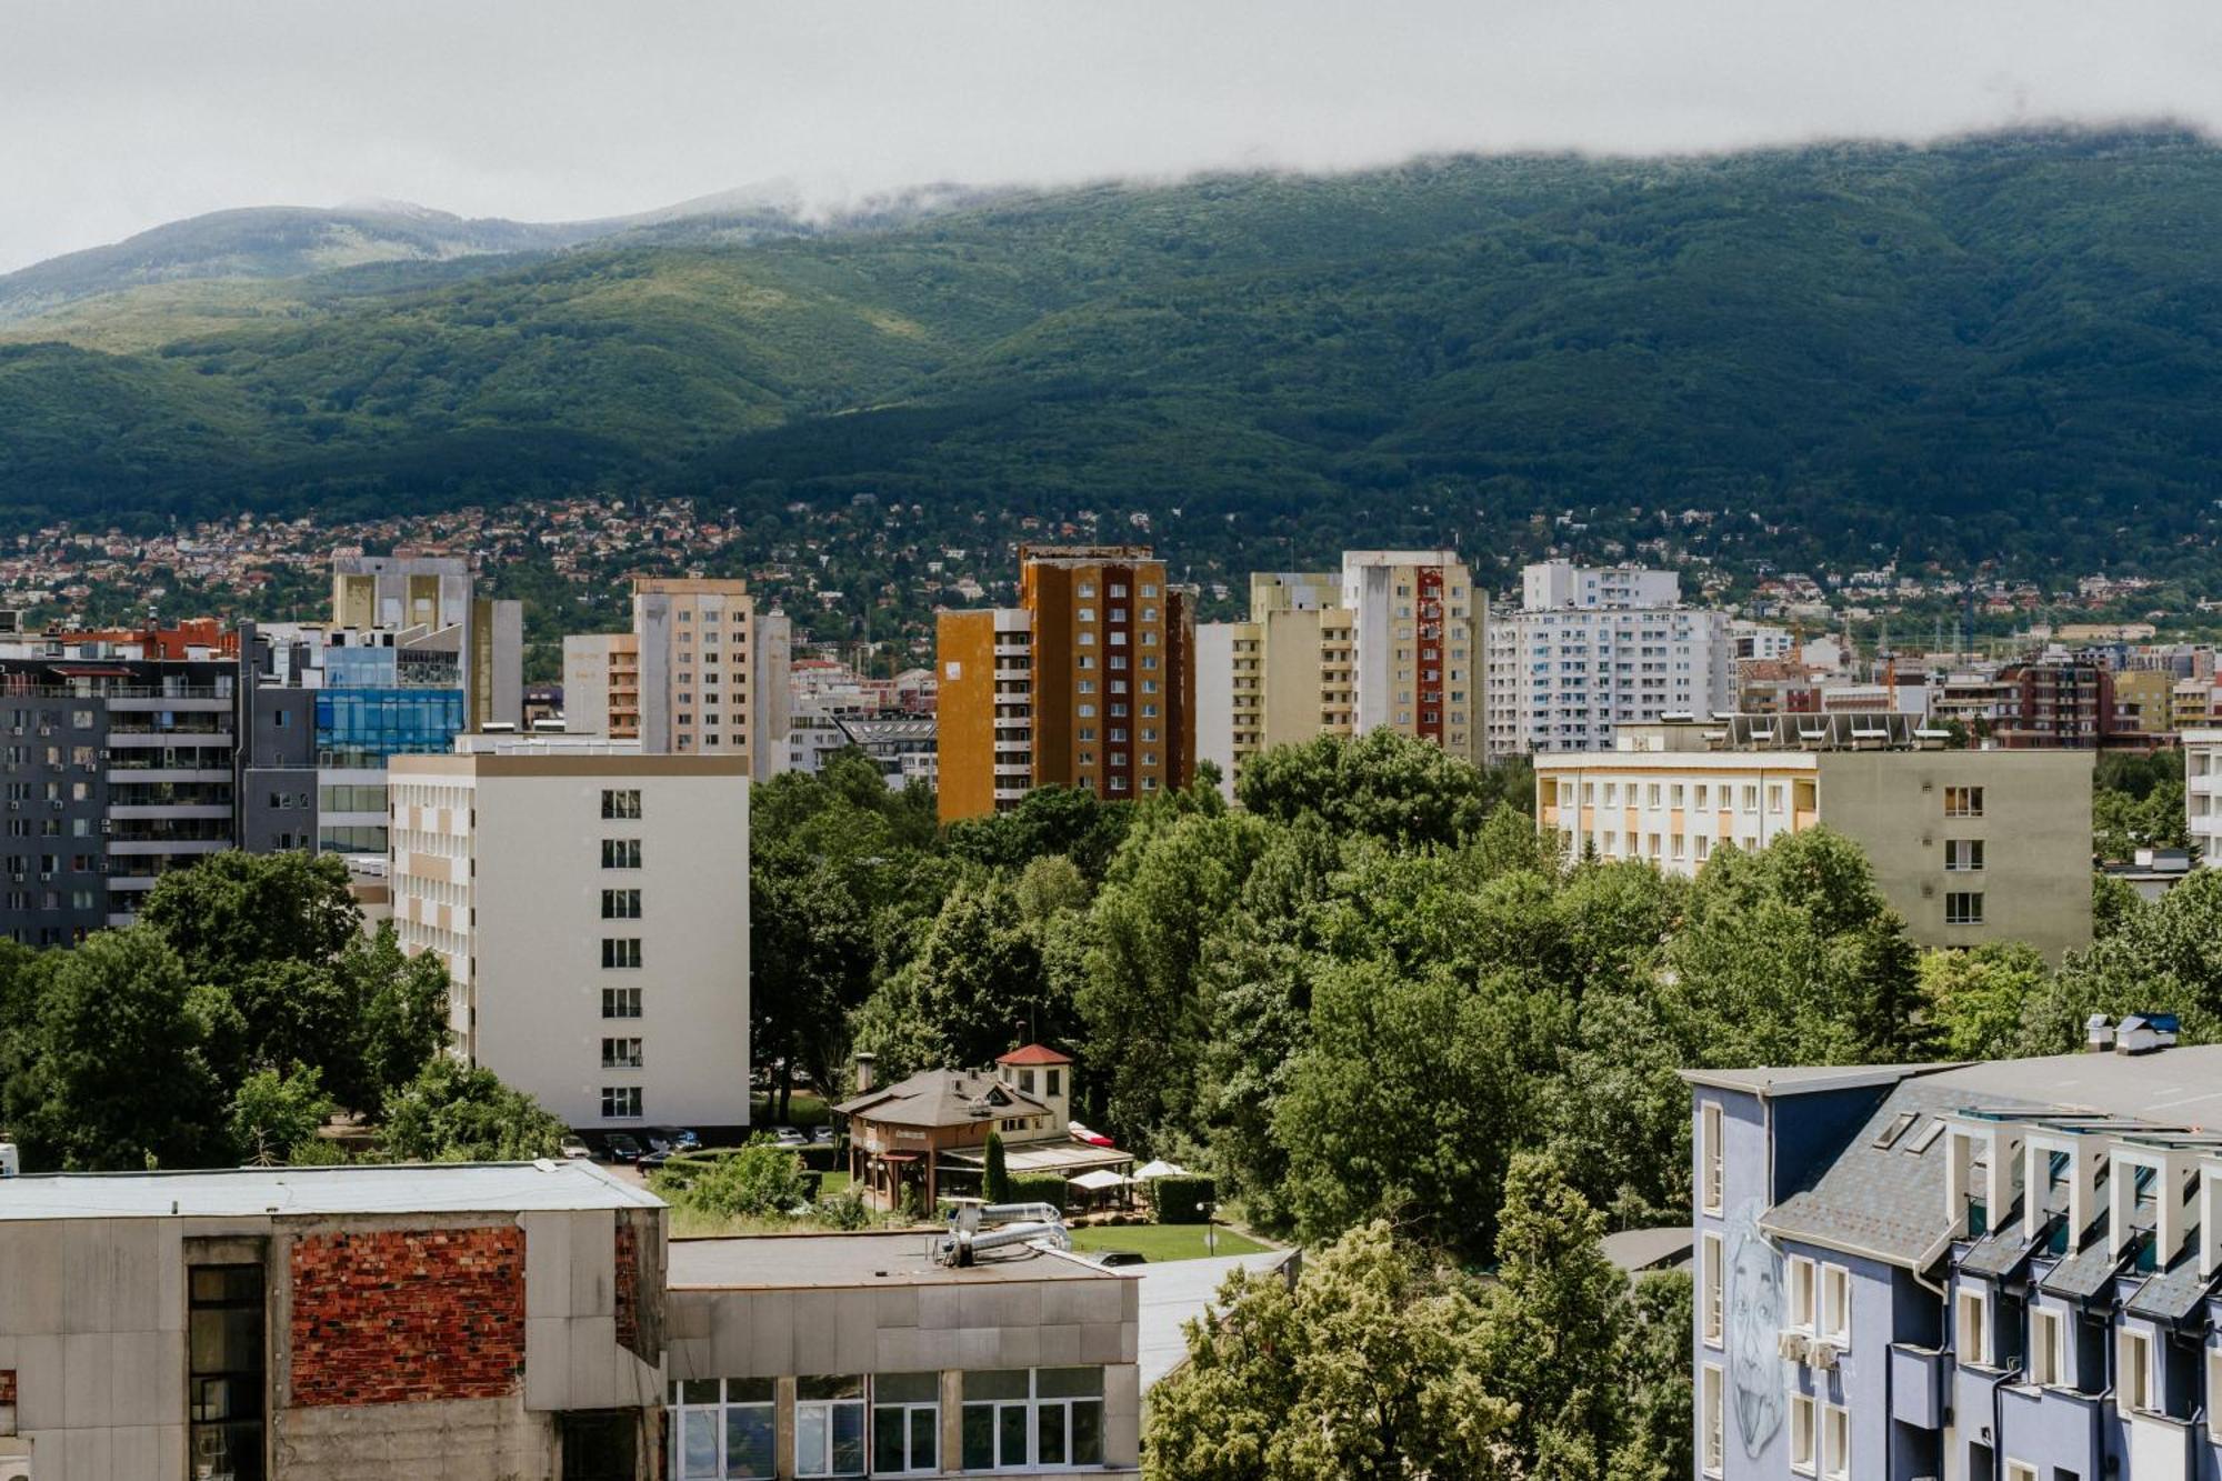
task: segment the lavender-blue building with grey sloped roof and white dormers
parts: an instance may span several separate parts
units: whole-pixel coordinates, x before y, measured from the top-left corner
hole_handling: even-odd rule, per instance
[[[1698,1470],[2218,1481],[2222,1045],[1693,1070]]]

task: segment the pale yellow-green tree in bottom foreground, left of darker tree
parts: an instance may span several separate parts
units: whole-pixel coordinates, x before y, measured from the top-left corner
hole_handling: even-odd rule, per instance
[[[1151,1390],[1162,1481],[1407,1481],[1504,1472],[1509,1405],[1482,1383],[1482,1305],[1458,1270],[1353,1227],[1293,1288],[1235,1272],[1189,1361]]]

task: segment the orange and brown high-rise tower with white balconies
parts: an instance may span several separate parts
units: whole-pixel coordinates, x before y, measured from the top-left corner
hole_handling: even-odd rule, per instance
[[[1020,605],[940,614],[935,656],[944,823],[1033,787],[1189,785],[1195,609],[1147,547],[1020,547]]]

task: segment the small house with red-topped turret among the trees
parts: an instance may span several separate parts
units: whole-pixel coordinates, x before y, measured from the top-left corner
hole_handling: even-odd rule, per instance
[[[880,1207],[978,1196],[989,1132],[1002,1136],[1011,1176],[1133,1165],[1131,1152],[1073,1134],[1073,1061],[1038,1043],[993,1070],[922,1070],[893,1085],[873,1085],[860,1058],[855,1096],[833,1110],[849,1119],[855,1187]]]

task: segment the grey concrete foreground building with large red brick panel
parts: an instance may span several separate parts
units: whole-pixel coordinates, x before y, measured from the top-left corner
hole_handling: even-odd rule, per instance
[[[0,1181],[0,1474],[649,1481],[664,1210],[591,1163]]]

